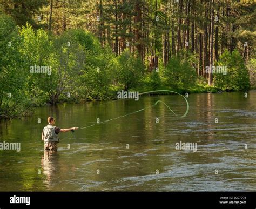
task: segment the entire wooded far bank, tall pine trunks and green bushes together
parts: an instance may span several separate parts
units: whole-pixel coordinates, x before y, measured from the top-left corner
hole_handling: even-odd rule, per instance
[[[122,90],[256,87],[253,0],[0,2],[0,118]]]

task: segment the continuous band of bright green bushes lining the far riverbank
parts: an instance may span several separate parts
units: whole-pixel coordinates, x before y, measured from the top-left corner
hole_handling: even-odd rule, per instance
[[[113,53],[109,45],[102,47],[99,39],[85,30],[67,30],[59,36],[50,36],[43,29],[35,30],[26,24],[18,32],[9,34],[9,28],[2,31],[8,31],[6,36],[11,35],[5,39],[6,43],[10,39],[17,41],[11,48],[4,45],[6,53],[0,62],[2,118],[28,116],[34,107],[47,103],[116,99],[117,92],[122,90],[164,89],[185,94],[250,89],[248,69],[237,49],[224,50],[219,56],[216,65],[223,66],[225,73],[207,74],[205,69],[209,66],[198,65],[196,55],[188,51],[179,51],[167,63],[159,58],[157,65],[152,65],[130,48]],[[71,45],[66,44],[68,40]],[[38,67],[36,73],[35,67]],[[51,71],[41,71],[46,68]]]

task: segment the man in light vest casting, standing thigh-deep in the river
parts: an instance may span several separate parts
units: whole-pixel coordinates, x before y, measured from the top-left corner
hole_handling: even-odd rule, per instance
[[[59,132],[68,132],[77,130],[78,127],[72,127],[70,129],[60,129],[59,127],[54,126],[55,119],[53,117],[48,117],[48,125],[44,127],[42,132],[42,140],[44,141],[45,150],[54,150],[57,151],[59,143]]]

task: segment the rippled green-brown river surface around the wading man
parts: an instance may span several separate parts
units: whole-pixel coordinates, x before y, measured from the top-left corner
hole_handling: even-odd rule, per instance
[[[248,98],[241,92],[190,95],[185,118],[158,104],[60,133],[58,152],[43,149],[48,116],[61,128],[84,127],[159,99],[180,116],[186,111],[181,96],[143,96],[45,106],[32,117],[2,120],[0,142],[21,142],[21,151],[0,150],[0,191],[255,191],[256,91]],[[197,151],[176,150],[179,141],[197,143]]]

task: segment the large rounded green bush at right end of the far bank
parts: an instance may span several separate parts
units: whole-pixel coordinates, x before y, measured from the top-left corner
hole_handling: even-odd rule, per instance
[[[230,53],[225,50],[220,56],[218,66],[227,66],[227,75],[214,74],[214,85],[220,89],[246,91],[250,88],[248,69],[238,50]]]

